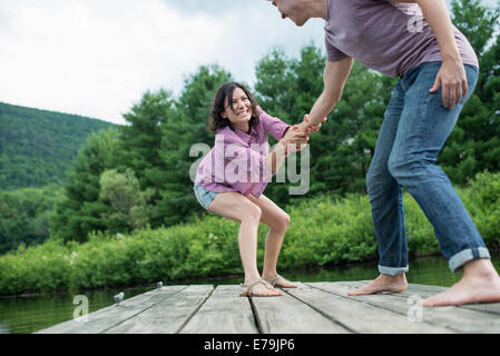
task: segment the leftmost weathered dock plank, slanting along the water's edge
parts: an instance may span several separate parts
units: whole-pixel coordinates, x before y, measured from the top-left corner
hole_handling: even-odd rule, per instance
[[[154,289],[133,298],[125,299],[120,305],[110,305],[90,313],[88,320],[71,319],[56,326],[37,332],[37,334],[99,334],[144,310],[150,308],[157,300],[161,300],[179,293],[187,286],[166,286]]]

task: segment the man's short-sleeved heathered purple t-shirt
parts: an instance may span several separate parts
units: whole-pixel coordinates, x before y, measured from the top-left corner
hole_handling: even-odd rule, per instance
[[[435,34],[416,3],[326,0],[325,19],[331,62],[352,57],[370,69],[400,77],[420,63],[442,61]],[[479,68],[467,38],[454,26],[453,31],[463,63]]]

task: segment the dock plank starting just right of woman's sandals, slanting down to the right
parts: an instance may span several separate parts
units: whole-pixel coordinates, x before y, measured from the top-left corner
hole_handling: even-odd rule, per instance
[[[327,318],[342,325],[353,333],[450,333],[450,330],[411,322],[405,315],[380,308],[367,303],[360,303],[351,297],[344,297],[301,284],[297,289],[290,289],[303,303],[308,304]]]

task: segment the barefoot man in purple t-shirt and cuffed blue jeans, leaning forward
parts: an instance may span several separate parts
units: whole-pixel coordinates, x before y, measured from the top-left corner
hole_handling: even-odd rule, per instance
[[[272,0],[269,0],[272,1]],[[500,301],[500,277],[462,201],[434,165],[478,79],[478,59],[451,23],[443,0],[274,0],[282,19],[301,27],[325,20],[324,90],[310,112],[317,125],[341,99],[357,60],[400,77],[366,176],[380,276],[349,295],[408,288],[404,187],[434,227],[452,271],[463,277],[423,306]]]

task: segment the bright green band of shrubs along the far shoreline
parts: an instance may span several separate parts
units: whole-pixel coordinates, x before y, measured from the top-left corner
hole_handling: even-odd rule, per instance
[[[479,174],[458,189],[488,247],[500,245],[500,174]],[[432,226],[408,194],[405,224],[411,256],[439,254]],[[366,196],[300,198],[286,207],[291,225],[280,270],[376,260]],[[94,234],[88,243],[49,239],[0,256],[0,295],[133,286],[242,274],[238,224],[206,215],[194,222],[127,235]],[[262,265],[267,227],[258,229]]]

